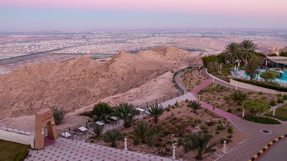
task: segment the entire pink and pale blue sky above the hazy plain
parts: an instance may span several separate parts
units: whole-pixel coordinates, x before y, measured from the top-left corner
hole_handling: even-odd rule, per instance
[[[0,1],[0,31],[286,30],[284,6],[283,0],[9,0]]]

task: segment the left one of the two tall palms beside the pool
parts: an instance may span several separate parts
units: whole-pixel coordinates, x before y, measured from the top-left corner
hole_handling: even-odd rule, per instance
[[[242,50],[238,43],[231,43],[225,46],[225,60],[228,60],[232,63],[232,67],[236,60],[242,59]]]

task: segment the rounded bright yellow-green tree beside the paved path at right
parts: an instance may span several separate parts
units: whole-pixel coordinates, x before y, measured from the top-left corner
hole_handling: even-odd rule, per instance
[[[263,113],[267,113],[270,110],[269,104],[263,100],[248,100],[243,102],[244,109],[248,110],[254,116],[259,118]]]

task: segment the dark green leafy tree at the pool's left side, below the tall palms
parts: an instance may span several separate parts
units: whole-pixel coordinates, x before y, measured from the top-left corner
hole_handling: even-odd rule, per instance
[[[252,59],[248,61],[248,65],[245,68],[245,73],[249,75],[251,80],[253,80],[259,74],[257,69],[258,65],[260,64],[260,59],[255,55],[251,55],[251,58]]]

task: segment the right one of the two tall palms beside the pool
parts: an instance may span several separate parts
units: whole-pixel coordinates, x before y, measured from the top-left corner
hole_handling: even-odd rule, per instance
[[[257,49],[257,45],[252,42],[252,40],[243,40],[239,44],[241,50],[243,51],[244,65],[246,66],[247,60],[251,59],[251,54]]]

